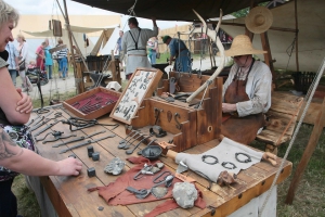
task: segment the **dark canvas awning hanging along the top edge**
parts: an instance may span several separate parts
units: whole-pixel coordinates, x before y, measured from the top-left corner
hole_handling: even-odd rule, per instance
[[[129,14],[128,10],[134,5],[136,16],[151,18],[155,16],[162,21],[195,21],[197,17],[192,9],[195,9],[203,18],[208,20],[219,17],[220,9],[223,14],[230,14],[240,9],[250,7],[251,0],[73,0],[90,7],[104,9],[121,14]],[[255,0],[255,3],[265,2],[268,0]]]

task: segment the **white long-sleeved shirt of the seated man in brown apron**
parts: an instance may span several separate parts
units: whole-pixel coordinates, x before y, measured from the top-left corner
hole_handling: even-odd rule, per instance
[[[237,69],[237,64],[234,64],[223,85],[222,98],[233,81]],[[260,61],[255,61],[245,88],[250,100],[236,103],[238,116],[243,117],[250,114],[266,113],[271,107],[271,86],[272,74],[269,66]]]

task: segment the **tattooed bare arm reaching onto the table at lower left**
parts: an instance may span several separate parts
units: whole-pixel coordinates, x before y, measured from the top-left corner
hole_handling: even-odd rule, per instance
[[[16,145],[0,128],[0,164],[29,176],[78,176],[82,164],[73,157],[53,162]]]

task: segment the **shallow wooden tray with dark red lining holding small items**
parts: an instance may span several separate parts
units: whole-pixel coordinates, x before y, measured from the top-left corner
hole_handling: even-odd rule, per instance
[[[94,119],[112,112],[120,94],[120,92],[98,87],[64,101],[63,106],[77,117]],[[89,110],[90,112],[81,112],[81,107],[86,105],[87,102],[90,102],[90,106],[94,104],[99,104],[100,106],[98,108],[95,107],[94,111]]]

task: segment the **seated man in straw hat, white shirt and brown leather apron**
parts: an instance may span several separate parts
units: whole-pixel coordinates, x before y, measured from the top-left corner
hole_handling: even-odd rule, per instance
[[[252,48],[246,35],[236,36],[225,51],[226,56],[233,56],[234,65],[223,86],[222,112],[230,118],[222,123],[221,133],[245,144],[261,131],[263,113],[271,106],[272,74],[266,64],[252,58],[262,53],[266,52]]]

